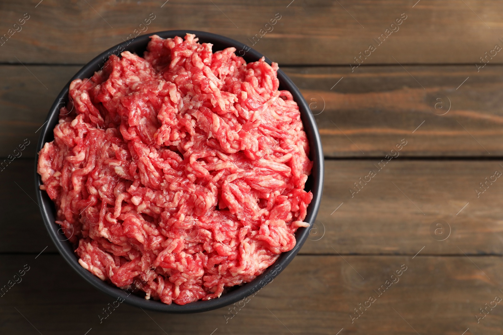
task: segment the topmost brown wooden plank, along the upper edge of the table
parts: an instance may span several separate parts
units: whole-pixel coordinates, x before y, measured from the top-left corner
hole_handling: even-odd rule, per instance
[[[148,34],[190,27],[237,39],[284,64],[349,67],[371,44],[376,50],[367,52],[370,56],[364,62],[368,64],[475,63],[500,43],[503,32],[503,8],[497,0],[466,4],[457,0],[440,4],[434,0],[418,4],[414,0],[291,4],[261,0],[253,6],[236,0],[214,4],[171,0],[164,5],[162,1],[37,3],[3,2],[2,34],[16,28],[13,25],[25,13],[29,20],[16,28],[21,31],[11,31],[0,62],[82,64],[135,34],[135,29],[146,28]],[[140,27],[151,13],[154,20]],[[266,27],[277,13],[281,19]],[[391,27],[400,17],[406,20]],[[390,28],[396,32],[386,32]],[[264,36],[259,35],[254,45],[250,41],[256,34]],[[379,45],[381,34],[390,35]],[[501,59],[494,61],[501,63]]]

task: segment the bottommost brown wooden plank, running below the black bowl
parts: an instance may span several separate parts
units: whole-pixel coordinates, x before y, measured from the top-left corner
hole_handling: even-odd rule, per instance
[[[30,267],[0,299],[0,331],[333,335],[344,328],[341,334],[461,335],[469,328],[468,334],[499,334],[501,303],[488,308],[479,323],[475,315],[495,296],[503,297],[503,262],[501,257],[472,260],[476,266],[465,256],[297,256],[272,283],[241,302],[242,308],[235,307],[234,314],[221,308],[170,315],[122,303],[100,323],[100,315],[107,315],[103,308],[115,299],[92,288],[59,255],[0,256],[2,285],[25,264]],[[405,271],[396,276],[401,269]],[[390,286],[381,288],[379,296],[381,285]],[[367,302],[370,296],[373,303]],[[355,308],[360,304],[367,308],[352,323],[350,315],[359,315]]]

